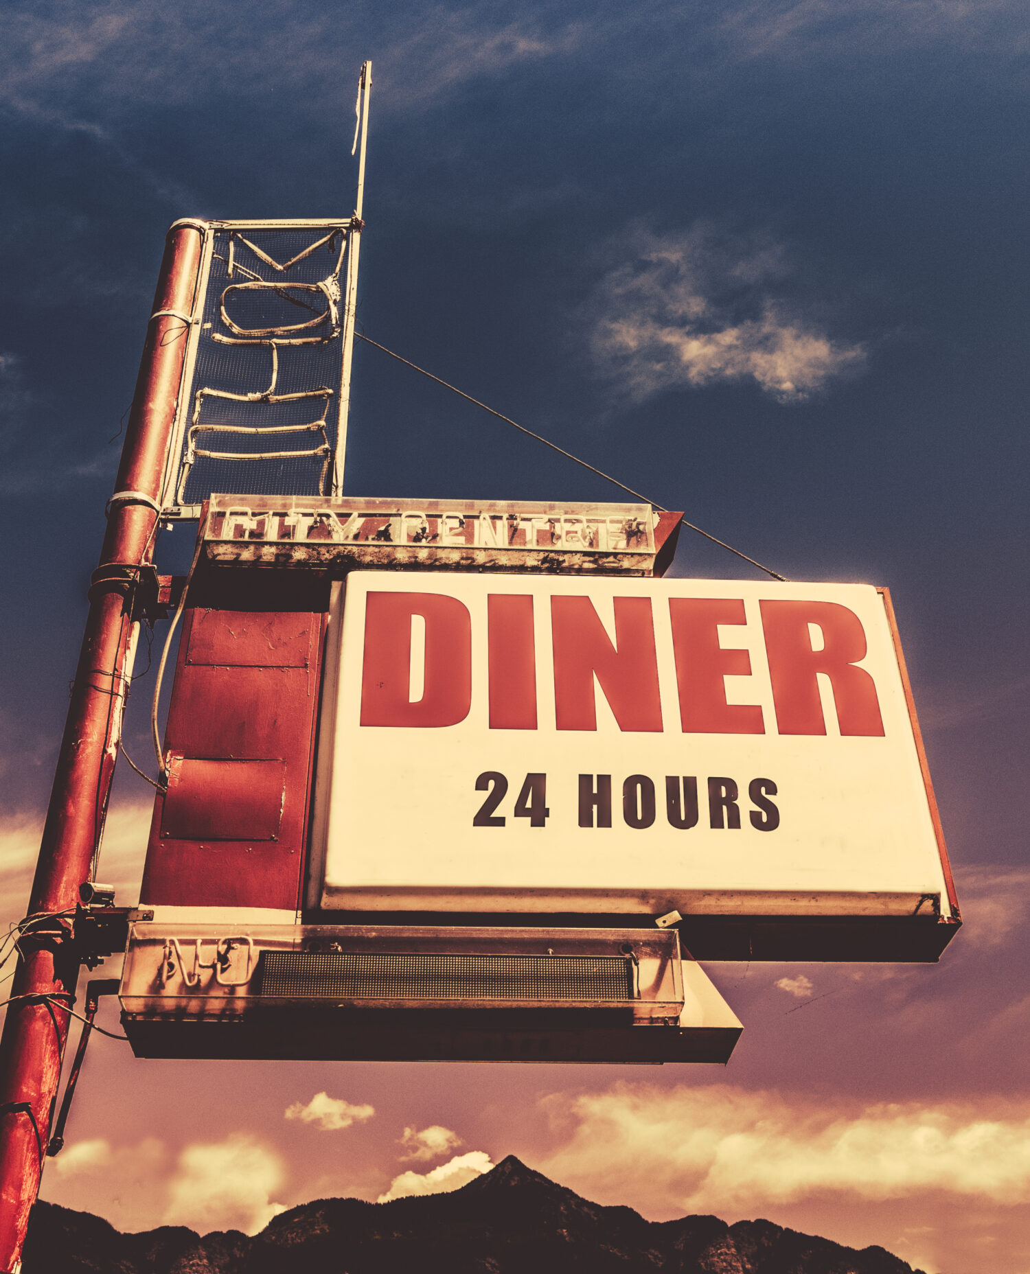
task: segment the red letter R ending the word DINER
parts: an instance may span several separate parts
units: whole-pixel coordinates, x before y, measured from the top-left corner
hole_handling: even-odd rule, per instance
[[[866,631],[858,615],[836,601],[762,601],[762,629],[780,734],[826,734],[817,674],[834,689],[844,735],[882,735],[876,683],[854,665],[866,657]],[[808,624],[822,632],[813,650]]]

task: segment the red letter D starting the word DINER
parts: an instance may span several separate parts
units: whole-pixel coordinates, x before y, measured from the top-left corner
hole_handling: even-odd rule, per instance
[[[422,698],[410,702],[412,617],[426,622]],[[370,592],[365,603],[361,724],[444,726],[472,705],[472,617],[440,592]]]

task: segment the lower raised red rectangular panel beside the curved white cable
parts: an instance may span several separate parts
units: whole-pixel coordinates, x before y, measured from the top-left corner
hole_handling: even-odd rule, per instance
[[[162,840],[277,841],[284,795],[282,761],[173,757],[161,817]]]

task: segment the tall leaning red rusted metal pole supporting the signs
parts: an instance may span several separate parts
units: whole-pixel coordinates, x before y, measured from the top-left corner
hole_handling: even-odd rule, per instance
[[[175,422],[203,242],[172,227],[161,265],[79,665],[43,828],[20,958],[0,1038],[0,1270],[20,1266],[40,1190],[79,959],[71,917],[99,845],[121,736],[140,589],[153,577],[161,480]],[[172,311],[172,312],[168,312]]]

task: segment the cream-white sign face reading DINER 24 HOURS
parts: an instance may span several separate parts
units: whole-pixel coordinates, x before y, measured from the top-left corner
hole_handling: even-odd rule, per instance
[[[951,913],[874,587],[354,572],[330,642],[325,907]]]

